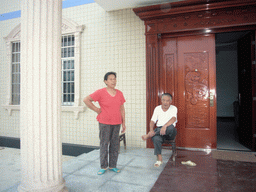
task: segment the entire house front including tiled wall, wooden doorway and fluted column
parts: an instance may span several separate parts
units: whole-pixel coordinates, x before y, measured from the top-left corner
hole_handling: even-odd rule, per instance
[[[19,191],[67,191],[61,142],[99,145],[96,114],[82,100],[105,86],[108,71],[117,72],[126,99],[129,147],[152,147],[141,135],[161,94],[170,92],[177,145],[216,149],[221,32],[246,32],[236,52],[239,136],[255,150],[255,1],[174,1],[106,12],[90,0],[63,7],[61,0],[24,0],[21,19],[19,1],[3,2],[0,136],[6,143],[21,138]]]

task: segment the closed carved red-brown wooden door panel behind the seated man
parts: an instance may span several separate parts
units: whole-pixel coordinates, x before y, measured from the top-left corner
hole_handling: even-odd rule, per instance
[[[216,148],[215,35],[159,39],[159,90],[178,108],[177,145]]]

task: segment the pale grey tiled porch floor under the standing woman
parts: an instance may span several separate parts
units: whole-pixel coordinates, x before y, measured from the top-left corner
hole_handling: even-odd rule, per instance
[[[20,150],[0,150],[0,191],[14,192],[20,183]],[[63,156],[63,177],[70,192],[83,191],[139,191],[148,192],[153,187],[171,151],[163,149],[163,165],[155,168],[153,149],[128,148],[121,152],[118,168],[121,173],[107,171],[97,175],[100,168],[99,150],[78,157]]]

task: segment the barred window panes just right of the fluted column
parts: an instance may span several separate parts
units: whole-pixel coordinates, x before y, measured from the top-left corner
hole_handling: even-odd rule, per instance
[[[62,36],[62,105],[74,105],[75,100],[75,37]]]

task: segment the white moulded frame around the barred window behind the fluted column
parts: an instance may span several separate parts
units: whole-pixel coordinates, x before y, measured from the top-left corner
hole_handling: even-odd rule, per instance
[[[81,33],[84,30],[84,25],[78,25],[70,19],[62,18],[62,35],[72,34],[75,36],[75,98],[72,106],[61,106],[61,110],[64,112],[74,112],[75,119],[79,118],[79,113],[84,112],[85,106],[81,105],[81,83],[80,83],[80,71],[81,71]],[[3,107],[8,111],[9,115],[12,115],[12,111],[19,111],[20,105],[12,105],[12,43],[20,41],[21,24],[17,25],[7,37],[6,42],[6,54],[8,69],[8,86],[7,86],[7,98],[6,104]],[[62,63],[60,63],[61,65]],[[22,67],[22,66],[21,66]]]

